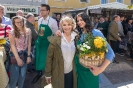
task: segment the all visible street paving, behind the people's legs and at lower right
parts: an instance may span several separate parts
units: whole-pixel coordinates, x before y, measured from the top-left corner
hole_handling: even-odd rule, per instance
[[[102,78],[105,79],[103,80],[105,82],[103,82],[102,87],[100,88],[121,88],[118,87],[118,84],[119,86],[123,86],[128,84],[128,82],[133,83],[133,61],[127,61],[125,60],[126,58],[127,56],[121,57],[116,55],[116,60],[119,61],[119,64],[111,63],[107,67],[102,76]],[[27,74],[24,88],[41,88],[40,80],[36,84],[31,84],[31,81],[35,76],[36,73]],[[122,88],[133,88],[133,86]]]

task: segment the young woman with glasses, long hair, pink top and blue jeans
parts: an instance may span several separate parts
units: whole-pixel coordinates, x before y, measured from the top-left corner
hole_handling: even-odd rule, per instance
[[[23,88],[27,64],[31,62],[31,31],[25,27],[24,18],[15,16],[12,19],[13,31],[9,34],[10,40],[10,82],[9,88]]]

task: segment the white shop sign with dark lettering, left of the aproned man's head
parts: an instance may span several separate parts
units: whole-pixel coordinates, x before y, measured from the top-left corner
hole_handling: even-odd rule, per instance
[[[38,7],[6,6],[6,13],[16,13],[18,10],[22,10],[24,13],[38,14]]]

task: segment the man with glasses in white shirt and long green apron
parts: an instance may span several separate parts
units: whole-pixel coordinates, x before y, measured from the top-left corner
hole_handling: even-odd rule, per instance
[[[42,71],[45,70],[46,55],[49,42],[47,37],[51,36],[58,30],[57,22],[55,19],[49,16],[50,6],[47,4],[41,4],[40,13],[42,17],[38,21],[39,31],[38,39],[36,41],[36,70],[38,75],[33,79],[32,83],[36,83],[42,76]]]

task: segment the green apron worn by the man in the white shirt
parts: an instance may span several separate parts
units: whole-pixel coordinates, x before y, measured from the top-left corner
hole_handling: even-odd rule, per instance
[[[49,18],[50,19],[50,18]],[[43,20],[42,20],[43,21]],[[36,70],[44,70],[45,64],[46,64],[46,55],[47,55],[47,49],[49,46],[49,41],[47,39],[48,36],[52,35],[52,31],[48,24],[41,24],[39,26],[39,36],[35,43],[36,47]],[[49,20],[48,20],[49,23]]]

